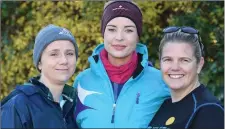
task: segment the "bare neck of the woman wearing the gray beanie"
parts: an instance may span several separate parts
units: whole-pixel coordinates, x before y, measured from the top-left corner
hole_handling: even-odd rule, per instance
[[[46,87],[49,88],[53,99],[55,102],[59,102],[60,100],[60,96],[62,95],[62,91],[64,88],[65,84],[56,84],[56,83],[52,83],[52,81],[50,81],[49,79],[47,79],[46,77],[44,77],[43,75],[41,76],[40,82],[42,82]]]

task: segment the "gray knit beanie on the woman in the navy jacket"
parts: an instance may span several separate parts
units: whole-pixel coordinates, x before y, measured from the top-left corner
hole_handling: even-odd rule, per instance
[[[78,47],[72,33],[66,28],[62,28],[62,27],[50,24],[44,27],[43,29],[41,29],[35,38],[35,44],[34,44],[34,50],[33,50],[33,62],[37,69],[38,69],[38,63],[40,61],[42,52],[50,43],[56,40],[71,41],[75,47],[76,59],[78,58]]]

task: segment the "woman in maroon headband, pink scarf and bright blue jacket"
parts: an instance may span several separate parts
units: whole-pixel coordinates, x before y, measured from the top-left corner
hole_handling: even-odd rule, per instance
[[[76,122],[81,128],[146,128],[169,92],[139,43],[140,9],[131,1],[106,3],[101,32],[104,43],[74,82]]]

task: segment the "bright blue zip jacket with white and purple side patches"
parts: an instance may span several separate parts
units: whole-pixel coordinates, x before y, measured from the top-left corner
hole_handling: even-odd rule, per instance
[[[81,128],[147,128],[169,90],[160,71],[149,66],[148,51],[138,43],[138,66],[115,100],[112,82],[102,64],[100,44],[88,58],[90,68],[81,72],[77,88],[76,122]]]

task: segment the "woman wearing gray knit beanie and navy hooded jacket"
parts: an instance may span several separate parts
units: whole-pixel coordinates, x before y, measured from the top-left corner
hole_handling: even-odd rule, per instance
[[[78,48],[65,28],[48,25],[37,34],[33,62],[40,76],[17,86],[1,102],[1,128],[76,128],[75,72]]]

